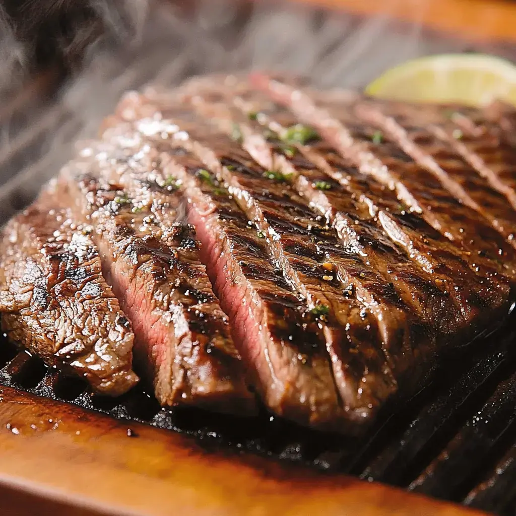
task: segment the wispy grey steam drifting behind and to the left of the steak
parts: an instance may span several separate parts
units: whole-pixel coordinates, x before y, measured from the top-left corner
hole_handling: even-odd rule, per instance
[[[25,6],[36,22],[20,28],[12,12],[0,11],[0,80],[6,75],[19,79],[30,68],[38,46],[27,35],[39,34],[43,26],[59,28],[53,58],[60,57],[72,70],[79,56],[83,60],[80,73],[62,87],[53,105],[31,110],[26,123],[0,120],[0,217],[34,198],[73,155],[74,141],[94,136],[128,89],[151,83],[171,87],[191,75],[258,69],[306,75],[318,86],[360,88],[400,61],[467,49],[467,43],[423,33],[421,24],[402,25],[385,16],[358,19],[272,0],[10,3]],[[38,11],[41,5],[46,11]],[[60,8],[68,9],[66,29],[55,25]],[[19,20],[22,9],[14,10]],[[13,149],[23,159],[13,159]]]

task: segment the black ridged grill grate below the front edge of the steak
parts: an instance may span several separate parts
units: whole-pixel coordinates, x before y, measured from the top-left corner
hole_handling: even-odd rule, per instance
[[[508,329],[513,319],[473,344],[490,349],[472,353],[475,365],[454,366],[450,357],[436,375],[439,381],[362,439],[323,437],[265,410],[256,418],[238,418],[163,409],[139,386],[117,399],[91,394],[84,381],[18,351],[5,337],[0,384],[183,432],[208,449],[223,447],[351,473],[508,516],[516,503],[516,330],[512,334]]]

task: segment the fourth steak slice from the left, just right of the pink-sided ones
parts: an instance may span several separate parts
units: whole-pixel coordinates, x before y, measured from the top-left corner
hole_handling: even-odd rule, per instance
[[[157,105],[143,97],[127,98],[119,111],[132,113],[139,118],[143,113],[150,114],[150,108],[154,112],[158,109]],[[203,166],[206,168],[221,168],[216,155],[210,154],[213,149],[219,149],[221,155],[225,156],[223,159],[227,160],[234,174],[230,192],[246,212],[244,227],[249,225],[249,219],[256,225],[263,237],[258,241],[262,247],[268,248],[266,259],[277,264],[277,272],[280,275],[283,273],[298,291],[298,295],[308,300],[308,307],[305,307],[304,312],[318,315],[317,326],[322,330],[319,332],[321,352],[327,357],[327,361],[325,348],[330,352],[333,375],[343,398],[344,417],[366,421],[365,416],[376,412],[381,402],[395,391],[396,382],[385,363],[375,321],[370,319],[364,305],[352,298],[346,300],[343,292],[347,293],[350,286],[341,284],[333,270],[333,264],[326,257],[325,249],[329,249],[333,243],[337,244],[336,241],[333,239],[328,244],[325,243],[324,233],[330,232],[324,229],[325,224],[320,222],[320,217],[317,218],[303,200],[291,197],[287,191],[280,194],[280,182],[275,184],[264,177],[264,170],[254,164],[237,143],[221,133],[212,134],[201,119],[195,121],[195,126],[201,133],[203,130],[207,131],[205,136],[208,140],[205,145],[200,143],[201,139],[196,142],[188,140],[186,133],[179,130],[184,129],[185,124],[191,125],[191,120],[187,120],[187,117],[193,117],[193,114],[185,111],[183,115],[185,118],[180,120],[180,110],[175,111],[173,118],[163,120],[156,126],[157,141],[169,128],[171,134],[175,133],[177,138],[174,138],[175,142],[167,142],[165,148],[166,145],[189,147],[203,156]],[[149,123],[149,119],[140,119],[135,126],[139,131],[146,132]],[[211,140],[212,137],[217,138],[216,144]],[[198,159],[197,167],[199,166],[201,162]],[[205,173],[208,174],[207,171]],[[242,193],[244,188],[249,193]],[[243,202],[243,195],[247,195],[249,204],[252,201],[252,212]],[[281,197],[278,202],[279,195]],[[220,295],[224,298],[222,293]],[[338,336],[339,340],[335,338]],[[278,366],[275,368],[280,369]],[[296,396],[299,398],[300,393]]]

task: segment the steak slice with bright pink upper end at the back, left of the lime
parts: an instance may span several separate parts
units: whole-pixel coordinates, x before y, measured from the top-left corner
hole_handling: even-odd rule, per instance
[[[451,195],[436,175],[416,163],[388,135],[382,134],[381,138],[372,141],[374,128],[372,131],[370,125],[364,125],[353,114],[356,96],[348,99],[345,106],[342,103],[341,107],[332,105],[330,115],[326,109],[329,106],[321,95],[314,102],[307,92],[295,87],[263,77],[256,80],[265,89],[269,88],[276,100],[289,105],[301,119],[317,126],[361,172],[396,189],[407,207],[422,213],[428,223],[450,240],[460,243],[465,252],[479,253],[480,257],[485,255],[492,262],[500,261],[503,256],[505,262],[502,265],[513,268],[514,249],[483,216]],[[342,94],[340,98],[343,100]]]

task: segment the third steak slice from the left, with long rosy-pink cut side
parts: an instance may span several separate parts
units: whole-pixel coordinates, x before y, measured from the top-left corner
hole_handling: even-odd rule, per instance
[[[139,97],[130,96],[124,110],[139,116]],[[152,109],[154,112],[154,108]],[[115,126],[104,133],[111,138]],[[321,322],[329,314],[310,311],[292,291],[281,268],[270,260],[264,235],[250,223],[233,196],[218,184],[180,141],[162,139],[169,124],[139,120],[134,138],[147,134],[159,149],[165,176],[176,178],[188,199],[188,218],[201,240],[215,292],[230,317],[235,343],[253,374],[266,405],[276,414],[303,425],[351,431],[338,399]],[[138,128],[139,127],[139,128]]]

